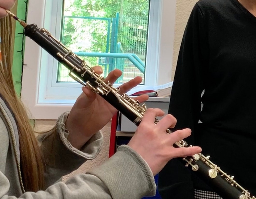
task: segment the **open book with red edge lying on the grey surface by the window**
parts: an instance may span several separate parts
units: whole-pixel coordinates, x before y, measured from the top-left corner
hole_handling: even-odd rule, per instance
[[[127,92],[128,96],[148,94],[150,97],[168,97],[171,95],[173,81],[159,86],[141,86]]]

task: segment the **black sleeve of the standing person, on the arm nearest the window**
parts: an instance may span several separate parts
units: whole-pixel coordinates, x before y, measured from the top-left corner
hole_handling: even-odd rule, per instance
[[[185,139],[189,145],[195,143],[208,57],[206,25],[201,9],[196,4],[182,39],[168,111],[177,119],[174,130],[192,130],[191,136]],[[185,163],[177,159],[169,161],[159,173],[158,186],[163,199],[170,195],[175,199],[194,198],[191,172],[185,168]]]

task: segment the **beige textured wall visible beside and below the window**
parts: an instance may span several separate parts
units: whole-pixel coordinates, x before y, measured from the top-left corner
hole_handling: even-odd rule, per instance
[[[170,0],[172,1],[172,0]],[[173,71],[175,71],[175,66],[177,63],[177,56],[179,52],[180,42],[182,40],[183,31],[185,29],[188,17],[190,12],[195,5],[197,0],[177,0],[176,5],[176,24],[175,24],[175,42],[174,42],[174,54],[173,54]],[[172,73],[174,75],[174,72]],[[54,126],[56,121],[52,120],[37,120],[36,121],[36,128],[39,131],[49,130],[52,126]],[[95,160],[87,161],[82,165],[77,171],[74,171],[70,175],[78,172],[84,172],[87,169],[100,165],[104,160],[108,158],[109,152],[109,139],[110,139],[110,126],[111,123],[109,122],[103,129],[102,133],[104,135],[103,147],[101,153]],[[69,175],[69,176],[70,176]]]

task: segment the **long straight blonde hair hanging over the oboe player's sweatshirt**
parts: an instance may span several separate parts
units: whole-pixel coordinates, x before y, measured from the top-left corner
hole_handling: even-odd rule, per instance
[[[20,160],[22,168],[23,184],[26,191],[38,191],[44,189],[44,163],[33,127],[22,102],[16,95],[12,77],[12,24],[11,18],[0,19],[1,28],[1,54],[0,66],[0,93],[12,110],[18,126]]]

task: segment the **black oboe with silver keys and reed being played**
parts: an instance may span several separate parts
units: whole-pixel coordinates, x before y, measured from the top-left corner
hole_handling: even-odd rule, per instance
[[[131,120],[137,126],[140,124],[145,112],[146,105],[140,103],[125,93],[121,94],[118,88],[106,82],[105,79],[95,73],[86,62],[80,59],[76,54],[66,48],[59,40],[43,28],[38,28],[36,24],[28,25],[18,19],[17,16],[7,10],[10,16],[25,28],[25,36],[30,37],[49,54],[56,58],[61,64],[66,66],[69,75],[84,86],[89,87],[93,92],[98,93],[112,106],[118,109],[123,115]],[[155,119],[155,123],[158,120]],[[172,133],[170,129],[166,133]],[[190,147],[187,142],[180,140],[174,144],[175,147]],[[204,156],[202,153],[193,156],[184,157],[185,166],[190,167],[202,180],[204,180],[216,193],[224,199],[256,199],[250,193],[239,185],[234,176],[230,176],[220,169],[216,164],[209,160],[210,156]]]

